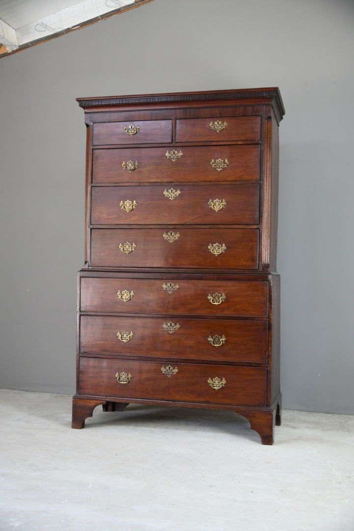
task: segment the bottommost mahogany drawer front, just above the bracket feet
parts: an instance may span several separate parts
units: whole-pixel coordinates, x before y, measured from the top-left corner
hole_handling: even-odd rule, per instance
[[[169,361],[81,358],[79,393],[128,399],[265,405],[267,370],[263,367],[180,363],[172,366],[172,370],[177,367],[178,372],[170,377],[161,367],[169,367]],[[120,383],[117,378],[122,382],[128,380],[128,383]],[[215,379],[225,383],[215,389],[208,383],[217,387]]]

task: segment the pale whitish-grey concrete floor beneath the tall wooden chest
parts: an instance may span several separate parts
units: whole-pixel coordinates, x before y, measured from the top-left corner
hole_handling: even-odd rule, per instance
[[[70,428],[71,397],[0,390],[0,529],[353,531],[354,416],[130,405]]]

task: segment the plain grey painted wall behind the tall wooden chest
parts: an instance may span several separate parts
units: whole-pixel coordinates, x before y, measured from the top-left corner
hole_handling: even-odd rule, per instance
[[[77,96],[279,86],[284,406],[354,413],[351,0],[154,0],[0,59],[0,387],[75,392]]]

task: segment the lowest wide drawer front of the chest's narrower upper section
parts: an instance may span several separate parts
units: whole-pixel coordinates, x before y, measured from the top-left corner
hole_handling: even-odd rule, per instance
[[[258,229],[92,229],[93,267],[257,269]]]

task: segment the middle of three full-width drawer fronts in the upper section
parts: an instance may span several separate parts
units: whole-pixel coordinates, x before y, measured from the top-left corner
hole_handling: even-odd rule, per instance
[[[92,225],[258,222],[259,184],[92,187]]]

